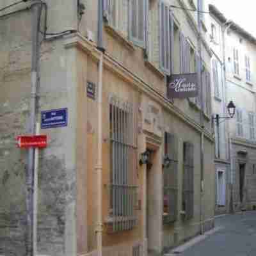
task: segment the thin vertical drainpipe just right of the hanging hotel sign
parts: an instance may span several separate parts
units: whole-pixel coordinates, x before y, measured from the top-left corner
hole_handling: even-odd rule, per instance
[[[203,109],[203,88],[202,88],[202,49],[201,49],[201,36],[202,36],[202,22],[200,18],[201,0],[197,0],[197,24],[198,24],[198,86],[200,88],[200,126],[202,134],[200,138],[200,233],[204,234],[204,228],[202,226],[202,192],[204,190],[204,109]]]

